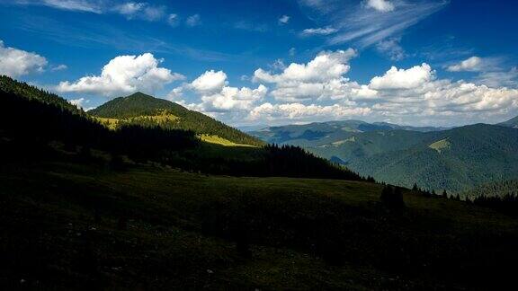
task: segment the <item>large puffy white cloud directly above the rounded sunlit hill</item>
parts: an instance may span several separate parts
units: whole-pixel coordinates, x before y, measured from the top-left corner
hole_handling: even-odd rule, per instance
[[[73,83],[61,82],[56,89],[61,93],[100,93],[109,97],[136,91],[153,93],[164,84],[184,78],[159,67],[161,62],[150,53],[115,57],[103,67],[101,75],[85,76]]]

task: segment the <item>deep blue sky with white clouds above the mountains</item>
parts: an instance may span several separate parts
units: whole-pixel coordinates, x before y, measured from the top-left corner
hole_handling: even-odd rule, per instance
[[[93,109],[135,92],[232,126],[518,115],[508,0],[0,0],[0,75]]]

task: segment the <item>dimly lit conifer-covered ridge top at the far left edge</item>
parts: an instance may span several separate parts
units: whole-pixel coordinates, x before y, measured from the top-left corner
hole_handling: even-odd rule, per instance
[[[73,113],[82,113],[82,110],[70,104],[66,99],[59,97],[54,93],[49,93],[30,84],[25,84],[13,80],[6,75],[0,75],[0,91],[4,93],[12,93],[27,100],[36,100],[43,103],[56,106],[62,110],[68,110]]]

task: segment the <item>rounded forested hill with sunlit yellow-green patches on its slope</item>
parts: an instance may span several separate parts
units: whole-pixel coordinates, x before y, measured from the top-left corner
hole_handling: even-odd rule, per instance
[[[118,119],[124,124],[158,124],[163,128],[192,130],[199,135],[223,137],[236,144],[264,145],[260,139],[246,135],[200,112],[144,93],[116,98],[88,113],[101,119]]]

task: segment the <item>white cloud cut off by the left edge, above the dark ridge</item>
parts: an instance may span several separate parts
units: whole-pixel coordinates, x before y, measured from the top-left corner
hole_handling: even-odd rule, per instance
[[[48,62],[45,57],[18,48],[4,46],[0,40],[0,75],[18,77],[43,72]]]

